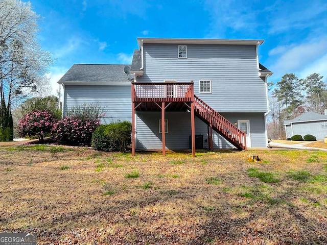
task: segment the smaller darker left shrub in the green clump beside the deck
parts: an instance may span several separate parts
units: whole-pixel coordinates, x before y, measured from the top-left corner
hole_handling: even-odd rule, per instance
[[[107,125],[100,125],[92,135],[91,146],[96,151],[110,152],[114,151],[114,146],[110,139],[105,135]]]

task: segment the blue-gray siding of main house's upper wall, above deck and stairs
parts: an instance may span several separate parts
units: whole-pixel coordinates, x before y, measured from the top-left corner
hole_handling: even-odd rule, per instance
[[[219,112],[267,111],[255,45],[188,44],[187,52],[178,59],[177,44],[145,43],[144,75],[137,82],[193,80],[195,94]],[[212,93],[199,93],[199,80],[211,80]]]

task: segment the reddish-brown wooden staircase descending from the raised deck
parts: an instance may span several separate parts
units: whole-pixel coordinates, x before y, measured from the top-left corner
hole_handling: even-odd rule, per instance
[[[239,150],[246,150],[246,135],[225,117],[194,94],[194,112],[209,127],[214,129]],[[208,142],[209,143],[209,142]]]

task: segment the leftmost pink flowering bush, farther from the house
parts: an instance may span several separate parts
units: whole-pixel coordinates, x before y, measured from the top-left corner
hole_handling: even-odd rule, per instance
[[[21,137],[37,136],[40,141],[43,141],[56,121],[55,117],[46,110],[28,113],[19,120],[18,134]]]

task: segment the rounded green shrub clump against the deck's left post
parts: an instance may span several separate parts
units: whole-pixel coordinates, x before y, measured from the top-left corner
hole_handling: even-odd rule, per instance
[[[98,151],[126,152],[131,144],[132,125],[129,121],[101,125],[92,137],[91,146]]]

